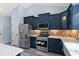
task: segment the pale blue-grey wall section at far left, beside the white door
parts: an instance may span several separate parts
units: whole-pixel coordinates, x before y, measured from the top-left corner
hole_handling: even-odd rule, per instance
[[[3,30],[4,30],[4,43],[11,42],[11,18],[10,17],[4,17],[4,25],[3,25]]]

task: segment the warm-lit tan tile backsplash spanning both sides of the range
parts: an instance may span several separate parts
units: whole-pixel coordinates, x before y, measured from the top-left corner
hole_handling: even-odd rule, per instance
[[[39,35],[41,31],[48,31],[49,35],[78,38],[79,30],[30,30],[31,35]]]

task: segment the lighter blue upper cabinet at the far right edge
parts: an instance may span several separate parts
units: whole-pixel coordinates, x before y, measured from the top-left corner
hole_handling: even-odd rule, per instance
[[[72,29],[79,30],[79,3],[72,4]]]

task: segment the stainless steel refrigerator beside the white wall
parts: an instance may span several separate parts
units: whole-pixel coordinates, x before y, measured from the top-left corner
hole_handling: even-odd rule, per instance
[[[19,47],[25,49],[30,47],[29,30],[29,24],[19,25]]]

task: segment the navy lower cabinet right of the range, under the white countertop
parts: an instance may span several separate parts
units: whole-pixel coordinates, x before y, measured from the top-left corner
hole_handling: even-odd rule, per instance
[[[64,56],[63,42],[57,38],[48,38],[48,51]]]

